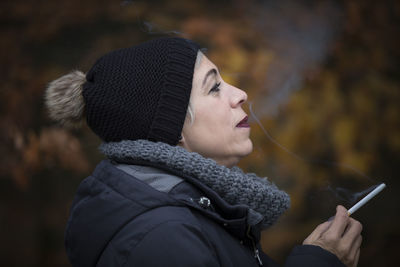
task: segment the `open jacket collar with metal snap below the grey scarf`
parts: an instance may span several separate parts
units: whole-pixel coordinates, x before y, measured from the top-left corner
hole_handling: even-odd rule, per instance
[[[176,203],[197,210],[223,225],[227,231],[239,239],[244,240],[250,229],[254,241],[259,241],[262,215],[245,205],[227,203],[214,190],[197,179],[173,170],[161,170],[147,161],[136,162],[140,165],[114,164],[116,168],[146,183],[156,191],[167,193],[169,197],[176,200]]]

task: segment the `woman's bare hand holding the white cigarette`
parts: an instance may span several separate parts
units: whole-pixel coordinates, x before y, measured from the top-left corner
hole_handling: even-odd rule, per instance
[[[333,221],[317,226],[303,244],[320,246],[335,254],[346,266],[354,267],[360,257],[361,231],[361,223],[350,218],[343,206],[337,206]]]

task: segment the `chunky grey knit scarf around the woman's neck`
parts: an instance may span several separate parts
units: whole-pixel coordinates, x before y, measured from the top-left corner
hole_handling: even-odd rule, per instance
[[[272,225],[289,208],[290,198],[267,178],[227,168],[179,146],[146,140],[103,143],[100,151],[115,161],[148,161],[198,179],[231,205],[242,204],[263,216],[262,226]]]

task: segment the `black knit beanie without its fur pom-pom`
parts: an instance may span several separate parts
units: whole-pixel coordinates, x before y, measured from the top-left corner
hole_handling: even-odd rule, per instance
[[[159,38],[101,57],[83,85],[89,127],[106,142],[147,139],[176,145],[199,47]]]

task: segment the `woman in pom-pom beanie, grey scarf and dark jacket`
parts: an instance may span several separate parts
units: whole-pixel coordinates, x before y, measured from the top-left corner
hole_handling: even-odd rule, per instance
[[[107,156],[79,186],[65,244],[74,266],[276,266],[260,232],[288,195],[235,165],[252,151],[247,95],[185,39],[101,57],[50,83],[63,124],[86,119]],[[339,206],[287,266],[356,266],[361,225]]]

